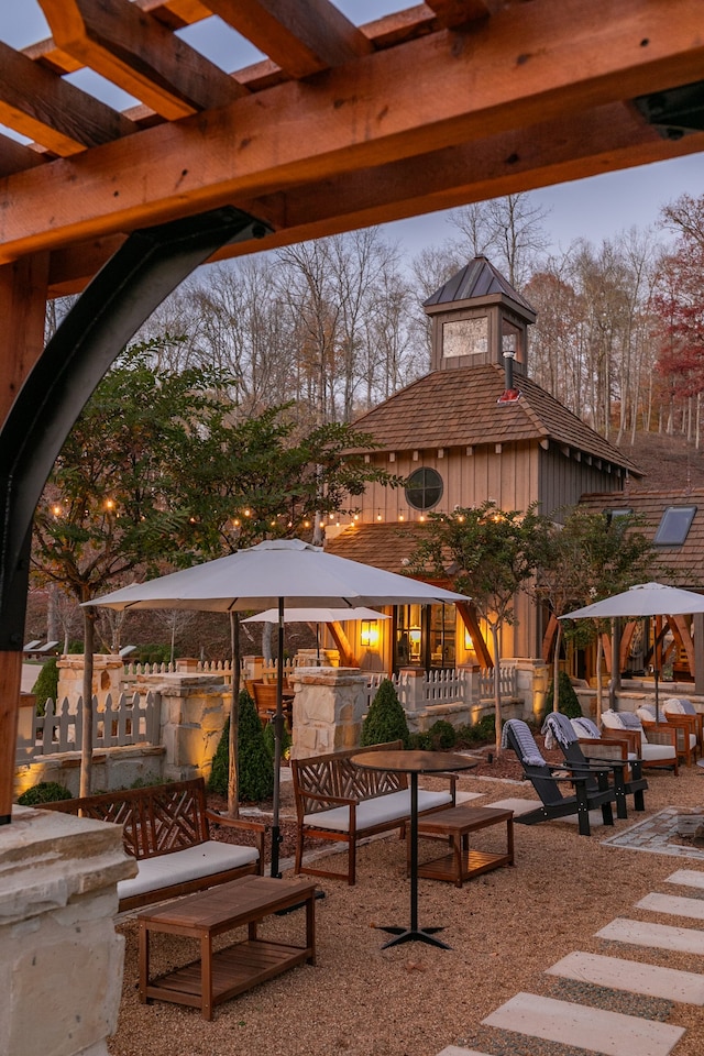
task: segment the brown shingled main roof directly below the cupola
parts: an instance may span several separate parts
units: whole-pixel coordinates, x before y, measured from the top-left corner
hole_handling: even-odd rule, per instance
[[[403,388],[354,422],[383,451],[551,440],[623,466],[640,470],[618,448],[566,410],[528,377],[516,377],[520,399],[497,405],[505,374],[496,364],[435,371]]]

